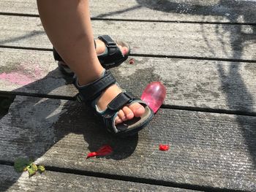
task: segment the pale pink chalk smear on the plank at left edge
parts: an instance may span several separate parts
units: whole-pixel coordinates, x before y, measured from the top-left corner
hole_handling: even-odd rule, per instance
[[[29,83],[35,81],[34,78],[28,77],[26,74],[20,74],[18,72],[1,73],[0,80],[12,82],[17,85],[28,85]]]

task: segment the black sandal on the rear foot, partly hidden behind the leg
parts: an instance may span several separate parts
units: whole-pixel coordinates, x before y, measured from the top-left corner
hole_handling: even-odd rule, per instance
[[[114,66],[118,66],[122,62],[127,60],[128,55],[130,53],[130,48],[129,48],[129,45],[127,42],[123,42],[123,41],[119,41],[119,40],[114,41],[108,35],[99,36],[98,39],[102,40],[102,42],[104,42],[106,45],[105,52],[98,55],[99,62],[100,62],[100,64],[102,64],[102,66],[105,69],[110,69]],[[96,48],[95,40],[94,40],[94,45]],[[122,47],[127,47],[128,48],[127,54],[124,55],[117,45],[121,45]],[[63,72],[64,74],[66,74],[68,76],[74,75],[74,72],[72,72],[69,69],[69,67],[67,66],[67,64],[64,63],[63,59],[61,58],[59,53],[57,53],[57,51],[54,47],[53,47],[53,57],[56,61],[59,61],[58,66],[59,66],[59,69],[61,70],[61,72]]]

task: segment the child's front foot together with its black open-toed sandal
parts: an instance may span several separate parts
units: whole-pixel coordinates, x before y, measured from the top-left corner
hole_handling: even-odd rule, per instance
[[[102,77],[87,85],[79,85],[76,79],[75,86],[79,91],[78,101],[83,101],[92,107],[102,118],[105,128],[116,136],[126,137],[136,134],[154,117],[154,112],[144,101],[119,88],[115,77],[109,71],[104,71]],[[101,104],[101,99],[108,100],[105,91],[109,88],[113,88],[111,93],[115,96],[107,103]]]

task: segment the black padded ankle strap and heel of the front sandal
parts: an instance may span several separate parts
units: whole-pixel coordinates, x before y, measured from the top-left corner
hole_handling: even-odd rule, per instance
[[[113,74],[111,74],[110,71],[106,70],[103,77],[89,83],[89,85],[79,86],[78,80],[76,80],[75,86],[78,88],[80,97],[83,98],[83,101],[88,102],[96,99],[102,93],[102,91],[114,83],[116,83],[116,78],[113,77]]]

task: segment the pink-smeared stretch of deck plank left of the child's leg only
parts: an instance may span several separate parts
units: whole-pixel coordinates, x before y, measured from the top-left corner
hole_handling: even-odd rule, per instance
[[[0,50],[1,91],[75,96],[75,87],[63,77],[51,52]]]

